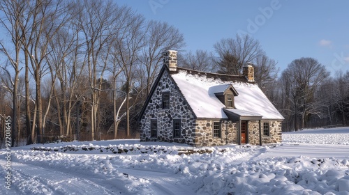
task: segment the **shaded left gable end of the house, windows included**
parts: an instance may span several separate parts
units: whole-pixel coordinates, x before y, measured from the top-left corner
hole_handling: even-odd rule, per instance
[[[151,88],[140,114],[141,141],[170,141],[193,144],[196,116],[172,79],[167,67],[163,67]],[[152,122],[155,123],[152,126]]]

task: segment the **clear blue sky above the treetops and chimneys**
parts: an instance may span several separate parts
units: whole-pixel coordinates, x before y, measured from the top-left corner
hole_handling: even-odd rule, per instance
[[[184,34],[186,51],[213,52],[214,43],[249,33],[281,70],[295,59],[318,59],[333,74],[349,70],[349,1],[119,0],[147,20]]]

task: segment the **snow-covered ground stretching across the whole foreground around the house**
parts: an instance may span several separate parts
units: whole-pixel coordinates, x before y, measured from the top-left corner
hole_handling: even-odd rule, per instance
[[[261,147],[131,139],[11,152],[6,189],[0,150],[0,194],[349,194],[349,127],[284,133]]]

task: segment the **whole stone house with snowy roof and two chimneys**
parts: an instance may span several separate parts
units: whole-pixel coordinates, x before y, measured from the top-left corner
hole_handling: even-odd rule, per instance
[[[192,146],[281,142],[283,116],[255,84],[251,63],[236,76],[177,67],[177,51],[163,57],[139,116],[141,141]]]

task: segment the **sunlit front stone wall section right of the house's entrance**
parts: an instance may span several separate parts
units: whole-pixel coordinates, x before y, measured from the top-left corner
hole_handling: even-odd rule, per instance
[[[262,143],[281,143],[281,121],[262,120],[262,133],[263,123],[269,123],[269,136],[262,135]],[[258,120],[248,121],[248,143],[253,145],[258,145],[260,143]]]

